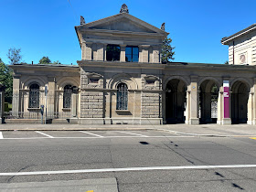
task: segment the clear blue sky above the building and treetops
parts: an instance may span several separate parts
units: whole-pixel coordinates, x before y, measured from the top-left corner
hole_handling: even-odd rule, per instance
[[[21,48],[27,63],[48,56],[76,64],[80,16],[89,23],[116,15],[123,3],[155,27],[165,22],[176,62],[224,63],[228,46],[220,39],[256,23],[255,0],[0,0],[0,58],[8,63],[8,48]]]

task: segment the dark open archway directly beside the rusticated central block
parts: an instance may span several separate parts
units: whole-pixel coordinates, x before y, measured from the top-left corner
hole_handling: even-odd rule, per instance
[[[187,85],[183,80],[169,80],[165,88],[166,123],[185,123]]]

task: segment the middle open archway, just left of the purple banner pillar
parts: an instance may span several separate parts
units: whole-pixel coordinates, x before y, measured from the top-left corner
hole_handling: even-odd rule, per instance
[[[204,80],[199,86],[198,118],[200,123],[217,123],[219,86]]]

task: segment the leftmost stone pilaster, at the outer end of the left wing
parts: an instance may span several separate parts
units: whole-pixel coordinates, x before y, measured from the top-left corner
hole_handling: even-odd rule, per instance
[[[20,86],[20,75],[15,75],[13,79],[13,102],[12,102],[12,113],[14,117],[18,117],[19,109],[20,109],[19,86]]]

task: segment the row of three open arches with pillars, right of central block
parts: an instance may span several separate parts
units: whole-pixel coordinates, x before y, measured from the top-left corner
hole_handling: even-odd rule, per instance
[[[232,80],[230,83],[229,118],[224,116],[223,84],[217,79],[206,78],[193,84],[183,78],[174,78],[167,80],[164,86],[164,123],[190,123],[191,117],[198,123],[229,124],[224,119],[229,119],[230,123],[254,122],[253,89],[245,80]],[[193,88],[196,89],[194,95]]]

